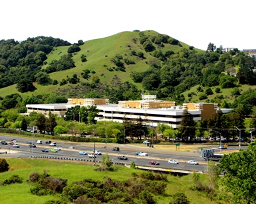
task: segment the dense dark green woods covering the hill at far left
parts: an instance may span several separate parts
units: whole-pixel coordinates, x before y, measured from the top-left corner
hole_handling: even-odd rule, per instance
[[[59,38],[38,36],[22,42],[13,39],[0,40],[0,88],[27,81],[35,82],[43,62],[54,47],[68,46],[69,42]],[[21,81],[23,80],[23,81]],[[18,87],[21,92],[33,91],[35,87]],[[22,91],[23,90],[23,91]]]

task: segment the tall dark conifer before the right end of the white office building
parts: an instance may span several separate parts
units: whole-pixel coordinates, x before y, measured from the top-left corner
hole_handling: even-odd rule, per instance
[[[182,113],[182,122],[179,130],[182,140],[192,140],[195,136],[195,121],[193,121],[193,115],[188,110],[184,110]]]

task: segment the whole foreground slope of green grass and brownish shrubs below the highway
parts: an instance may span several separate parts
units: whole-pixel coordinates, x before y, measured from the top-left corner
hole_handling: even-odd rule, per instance
[[[225,203],[225,201],[221,199],[223,195],[218,191],[210,190],[211,193],[214,193],[209,194],[209,192],[204,190],[199,191],[197,189],[195,182],[198,180],[201,180],[201,186],[206,186],[203,184],[207,183],[205,180],[208,181],[206,175],[200,175],[199,179],[198,175],[193,176],[193,174],[180,178],[170,174],[162,175],[144,172],[134,168],[129,169],[124,166],[114,166],[114,171],[98,172],[95,171],[98,166],[95,167],[89,164],[31,160],[28,158],[8,158],[7,162],[9,163],[10,170],[0,174],[0,181],[3,182],[13,175],[18,175],[20,178],[23,178],[23,183],[0,186],[1,201],[4,203],[17,203],[17,198],[19,199],[19,203],[27,203],[28,201],[29,203],[47,203],[47,201],[55,201],[55,203],[57,203],[57,201],[59,201],[59,203],[72,203],[72,201],[74,201],[79,203],[78,201],[83,201],[84,198],[80,197],[80,199],[76,200],[76,196],[79,195],[78,189],[81,191],[90,189],[90,193],[93,193],[93,191],[95,193],[96,189],[94,189],[93,186],[97,185],[98,190],[100,190],[98,193],[108,192],[108,198],[105,197],[104,199],[110,199],[112,197],[115,199],[116,203],[126,203],[123,195],[126,195],[124,192],[128,192],[128,189],[124,189],[129,186],[132,187],[130,190],[132,190],[131,192],[133,192],[134,198],[132,199],[129,195],[126,195],[127,203],[131,203],[132,200],[132,203],[170,203],[170,201],[174,201],[174,198],[180,196],[182,196],[182,199],[186,199],[187,197],[190,203]],[[46,170],[46,172],[44,172],[44,170]],[[62,180],[66,179],[66,187],[63,188],[63,192],[48,191],[48,193],[42,193],[41,191],[41,196],[35,195],[37,185],[31,182],[35,181],[35,172],[38,172],[37,175],[42,178],[47,174],[51,175],[51,178],[55,178],[55,180],[57,180],[57,178],[61,178]],[[196,179],[193,177],[196,177]],[[138,180],[137,184],[135,180]],[[148,186],[151,185],[150,183],[154,183],[155,187],[147,189],[144,186],[146,183]],[[47,185],[46,181],[45,185]],[[79,188],[78,185],[82,185],[83,187]],[[105,189],[103,191],[103,189],[100,189],[101,185],[105,185],[105,187],[107,185],[108,190]],[[72,191],[74,192],[75,189],[77,191],[76,194],[73,195]],[[209,190],[209,188],[207,189]],[[139,197],[136,197],[137,192]],[[181,192],[184,194],[176,194]],[[91,196],[86,193],[85,195],[87,195],[87,197]],[[132,200],[129,201],[129,199]],[[92,199],[88,201],[92,203]],[[100,203],[100,201],[98,201],[98,203]]]

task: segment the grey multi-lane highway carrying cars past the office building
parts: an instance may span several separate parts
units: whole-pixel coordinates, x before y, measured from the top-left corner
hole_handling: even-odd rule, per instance
[[[15,144],[19,144],[19,148],[13,147],[13,145],[9,144],[12,139],[16,139],[17,142]],[[55,146],[49,146],[49,144],[45,144],[46,140],[43,140],[43,144],[36,144],[35,138],[19,138],[13,136],[3,136],[0,135],[1,141],[6,141],[8,144],[3,145],[0,144],[0,152],[7,152],[7,154],[0,154],[0,157],[5,156],[13,156],[13,157],[35,157],[35,156],[57,156],[63,158],[86,158],[93,160],[93,158],[88,158],[88,155],[80,155],[78,152],[84,151],[87,154],[92,153],[94,150],[93,143],[77,143],[77,142],[63,142],[63,141],[54,141],[57,143],[57,147],[61,148],[59,152],[51,152]],[[42,139],[41,139],[42,140]],[[36,148],[29,148],[29,143],[33,142],[36,144]],[[53,141],[52,141],[53,142]],[[74,148],[68,148],[73,146]],[[118,146],[120,148],[119,152],[112,151],[114,146]],[[41,152],[41,150],[47,149],[49,152]],[[158,161],[160,165],[154,166],[154,168],[166,168],[166,170],[187,170],[187,171],[198,171],[198,172],[206,172],[207,170],[207,162],[201,158],[201,154],[199,152],[176,152],[169,150],[159,150],[150,147],[138,147],[131,144],[107,144],[106,148],[104,148],[104,144],[96,143],[95,149],[102,152],[102,155],[108,154],[110,159],[113,162],[122,162],[124,164],[130,164],[131,162],[135,162],[136,166],[148,166],[152,167],[149,164],[150,161]],[[135,152],[146,152],[148,156],[136,156]],[[101,160],[102,155],[96,156],[96,160]],[[128,160],[118,160],[118,156],[126,156]],[[168,160],[177,160],[179,164],[168,164]],[[196,160],[199,162],[199,165],[190,165],[188,164],[189,160]]]

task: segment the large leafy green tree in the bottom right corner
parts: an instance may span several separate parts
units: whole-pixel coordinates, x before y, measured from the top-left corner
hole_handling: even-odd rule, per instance
[[[256,202],[256,143],[249,144],[247,150],[224,154],[219,161],[221,179],[225,191],[232,193],[235,203]]]

